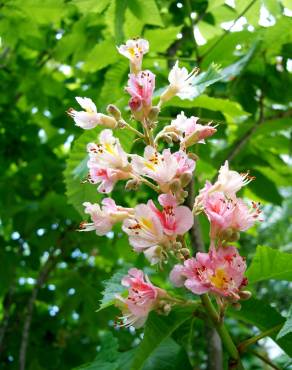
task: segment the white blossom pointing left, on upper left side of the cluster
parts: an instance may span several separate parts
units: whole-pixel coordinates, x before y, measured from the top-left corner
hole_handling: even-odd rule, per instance
[[[89,98],[81,98],[77,96],[75,98],[80,104],[84,111],[78,112],[73,108],[68,109],[67,113],[71,116],[76,126],[83,128],[84,130],[90,130],[98,125],[114,128],[117,125],[116,120],[113,117],[107,116],[102,113],[97,113],[97,109],[93,101]]]

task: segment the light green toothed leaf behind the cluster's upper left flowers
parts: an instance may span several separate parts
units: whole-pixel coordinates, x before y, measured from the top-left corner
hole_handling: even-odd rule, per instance
[[[97,203],[102,198],[102,195],[97,191],[97,185],[83,183],[88,172],[86,146],[89,142],[97,141],[102,129],[103,127],[97,127],[93,130],[87,130],[75,140],[64,171],[68,202],[82,216],[84,216],[84,207],[82,205],[84,202]],[[123,149],[126,152],[130,152],[134,134],[125,129],[116,129],[114,130],[114,135],[120,139]]]

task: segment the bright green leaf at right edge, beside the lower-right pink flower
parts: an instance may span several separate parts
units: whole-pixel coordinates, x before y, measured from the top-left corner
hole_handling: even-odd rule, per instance
[[[246,275],[250,284],[268,279],[292,281],[292,254],[258,246]]]

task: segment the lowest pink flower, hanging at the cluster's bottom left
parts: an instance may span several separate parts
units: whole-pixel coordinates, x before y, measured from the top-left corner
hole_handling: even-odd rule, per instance
[[[128,297],[117,295],[117,305],[121,306],[123,326],[140,328],[144,325],[150,311],[158,307],[159,300],[166,292],[153,285],[143,271],[136,268],[129,270],[122,279],[122,285],[128,288]]]

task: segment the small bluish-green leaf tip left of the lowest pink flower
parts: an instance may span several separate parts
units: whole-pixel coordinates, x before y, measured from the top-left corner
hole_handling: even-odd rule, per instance
[[[100,301],[98,311],[101,311],[104,308],[113,305],[116,294],[125,291],[125,287],[122,286],[121,280],[125,275],[127,275],[129,267],[129,265],[124,266],[115,274],[113,274],[113,276],[109,280],[104,281],[104,290],[102,292],[103,297]]]

